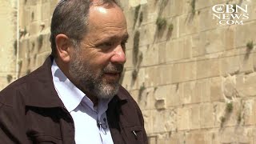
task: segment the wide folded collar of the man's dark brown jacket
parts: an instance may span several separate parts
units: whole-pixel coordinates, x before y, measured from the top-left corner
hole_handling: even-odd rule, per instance
[[[51,66],[54,58],[49,56],[46,61],[37,70],[27,75],[26,82],[28,90],[21,90],[21,93],[27,97],[27,106],[36,107],[64,107],[58,93],[54,88],[53,77],[51,73]],[[128,93],[122,86],[118,90],[118,94],[112,98],[114,101],[126,100],[126,93]],[[129,94],[129,93],[128,93]],[[112,101],[111,100],[111,101]]]

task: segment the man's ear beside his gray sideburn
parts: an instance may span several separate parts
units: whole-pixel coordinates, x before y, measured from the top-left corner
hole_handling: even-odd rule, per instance
[[[55,38],[55,43],[58,58],[60,58],[62,62],[70,62],[70,50],[72,48],[70,38],[65,34],[58,34]]]

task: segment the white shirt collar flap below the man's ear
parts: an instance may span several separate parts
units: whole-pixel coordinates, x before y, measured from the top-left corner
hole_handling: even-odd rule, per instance
[[[82,98],[86,96],[81,90],[79,90],[59,69],[58,65],[54,61],[51,66],[51,72],[53,75],[54,87],[61,98],[66,110],[71,112],[82,101]],[[91,102],[91,101],[90,101]],[[92,103],[92,102],[91,102]]]

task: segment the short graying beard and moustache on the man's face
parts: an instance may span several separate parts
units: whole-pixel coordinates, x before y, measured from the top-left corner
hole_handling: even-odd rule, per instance
[[[112,98],[118,93],[119,83],[118,82],[106,82],[102,79],[104,70],[120,70],[123,66],[114,66],[109,64],[101,70],[100,74],[95,74],[90,70],[89,62],[83,62],[79,57],[79,50],[76,50],[73,59],[70,61],[69,72],[70,76],[78,81],[78,88],[82,88],[82,91],[90,94],[97,98]]]

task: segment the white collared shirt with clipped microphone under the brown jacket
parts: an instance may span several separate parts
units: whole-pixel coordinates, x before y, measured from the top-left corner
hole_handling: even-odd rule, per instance
[[[76,144],[113,144],[106,118],[110,99],[99,99],[98,106],[94,107],[90,98],[66,78],[55,61],[51,72],[55,90],[74,120]]]

